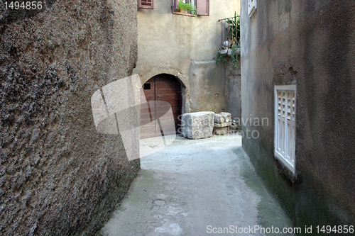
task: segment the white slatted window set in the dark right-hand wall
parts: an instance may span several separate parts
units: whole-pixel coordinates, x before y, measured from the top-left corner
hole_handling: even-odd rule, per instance
[[[295,174],[296,85],[275,86],[275,157]]]

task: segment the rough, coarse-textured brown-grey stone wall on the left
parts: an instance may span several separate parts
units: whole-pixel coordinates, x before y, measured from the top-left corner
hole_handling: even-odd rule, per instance
[[[1,235],[95,232],[140,166],[119,135],[97,133],[90,104],[131,75],[136,0],[0,3],[0,33]]]

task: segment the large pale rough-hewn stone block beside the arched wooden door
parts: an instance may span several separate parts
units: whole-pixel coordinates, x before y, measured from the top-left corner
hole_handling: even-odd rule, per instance
[[[214,126],[214,112],[200,111],[185,113],[181,119],[181,134],[192,140],[211,137]]]

